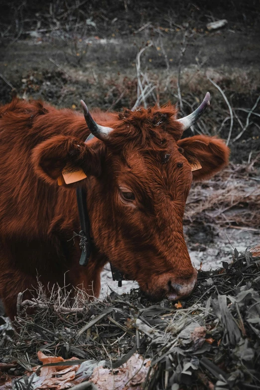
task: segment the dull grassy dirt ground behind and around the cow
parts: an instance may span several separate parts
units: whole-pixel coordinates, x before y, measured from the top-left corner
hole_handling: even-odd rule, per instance
[[[229,137],[231,165],[194,185],[187,201],[184,233],[192,262],[203,269],[229,261],[232,246],[260,243],[259,1],[206,3],[3,1],[0,16],[2,104],[17,93],[72,110],[80,99],[105,111],[131,108],[142,48],[143,85],[153,88],[147,104],[179,104],[181,96],[180,116],[187,115],[210,91],[211,106],[193,130]],[[219,19],[227,24],[209,31],[207,23]],[[106,267],[103,292],[107,284],[119,292],[137,287],[125,281],[119,289]]]

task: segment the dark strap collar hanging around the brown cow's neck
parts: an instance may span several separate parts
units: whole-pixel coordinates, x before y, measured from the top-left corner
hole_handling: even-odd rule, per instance
[[[87,143],[89,140],[94,138],[94,135],[92,133],[89,134],[87,139],[85,140],[85,143]],[[86,266],[88,264],[93,242],[90,235],[90,219],[89,219],[89,213],[87,208],[87,192],[86,189],[83,187],[77,187],[76,188],[76,195],[77,195],[77,204],[78,204],[78,212],[79,212],[79,219],[80,219],[80,249],[81,249],[81,257],[80,257],[80,265]],[[111,272],[112,272],[112,279],[118,281],[118,286],[122,287],[122,280],[126,280],[124,277],[123,272],[121,272],[119,269],[114,267],[112,263],[110,262]]]

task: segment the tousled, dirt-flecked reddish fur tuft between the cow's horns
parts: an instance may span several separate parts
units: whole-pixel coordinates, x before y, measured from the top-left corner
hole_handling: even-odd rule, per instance
[[[109,143],[119,152],[126,147],[164,149],[169,136],[172,140],[178,140],[182,135],[182,125],[176,121],[176,114],[177,109],[170,104],[161,109],[126,109],[114,114],[113,120],[106,125],[114,129]]]

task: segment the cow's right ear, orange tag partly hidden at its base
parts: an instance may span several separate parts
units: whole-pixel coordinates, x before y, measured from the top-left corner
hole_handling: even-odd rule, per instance
[[[222,139],[194,135],[180,139],[177,145],[191,165],[194,180],[209,179],[228,164],[230,149]]]

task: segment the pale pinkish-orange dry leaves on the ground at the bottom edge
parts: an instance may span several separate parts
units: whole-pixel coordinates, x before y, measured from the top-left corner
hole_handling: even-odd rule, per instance
[[[43,365],[62,362],[69,363],[70,361],[78,360],[76,358],[64,360],[61,357],[46,356],[40,351],[38,352],[38,359]],[[71,366],[37,366],[34,367],[34,373],[28,380],[32,382],[34,389],[39,390],[67,389],[88,379],[90,379],[90,383],[96,385],[96,387],[93,385],[93,390],[140,390],[151,363],[149,359],[143,360],[142,356],[137,353],[131,356],[121,367],[114,370],[93,362],[85,361],[81,365]],[[105,365],[105,361],[100,363]],[[38,372],[40,372],[39,376],[37,376]],[[26,377],[25,379],[27,380]],[[24,382],[24,378],[21,378],[21,382]]]

